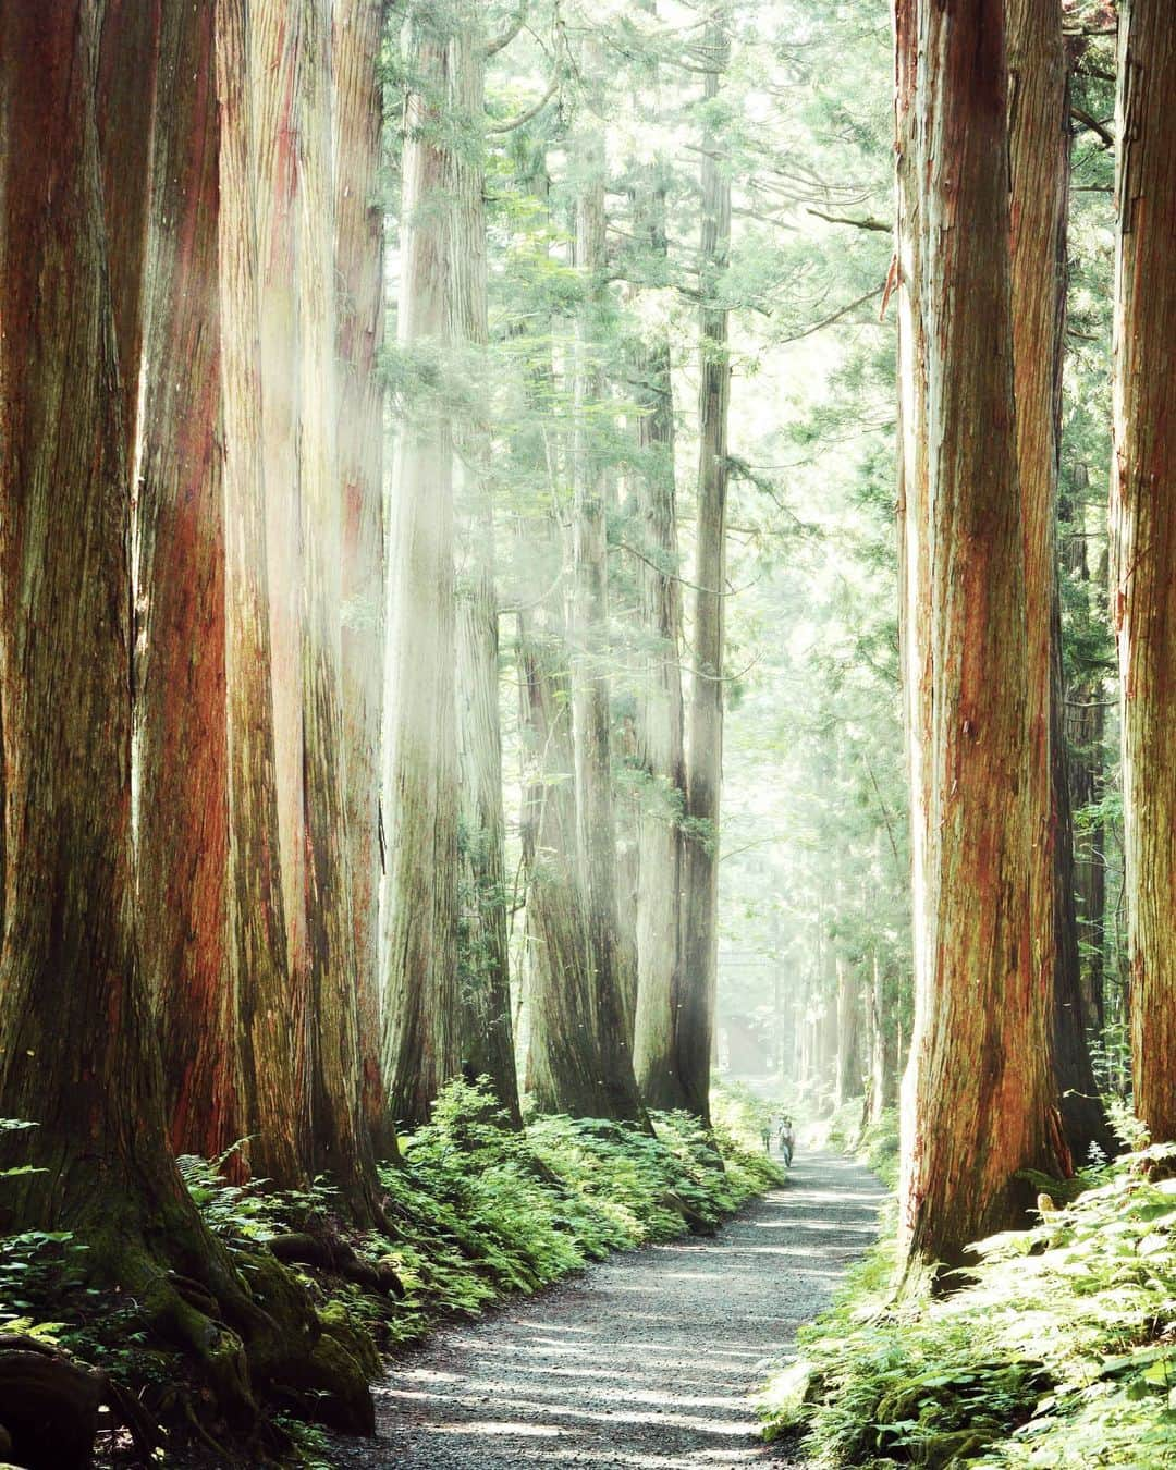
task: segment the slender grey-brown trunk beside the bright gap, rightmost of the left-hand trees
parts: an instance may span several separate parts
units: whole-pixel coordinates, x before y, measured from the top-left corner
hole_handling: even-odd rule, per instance
[[[729,16],[719,9],[703,41],[704,106],[719,96],[729,59]],[[723,628],[726,592],[726,432],[731,404],[728,310],[716,300],[731,247],[731,175],[703,128],[703,229],[698,313],[698,523],[694,648],[688,709],[678,1075],[688,1108],[710,1123],[710,1058],[719,970],[719,794],[723,775]]]

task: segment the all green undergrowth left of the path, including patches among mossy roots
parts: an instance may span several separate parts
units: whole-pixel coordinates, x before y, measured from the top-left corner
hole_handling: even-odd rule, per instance
[[[432,1122],[401,1141],[403,1164],[381,1169],[387,1227],[372,1235],[347,1230],[325,1179],[275,1192],[265,1180],[231,1183],[228,1157],[188,1157],[179,1166],[206,1225],[243,1270],[268,1242],[276,1250],[278,1238],[332,1242],[334,1266],[285,1257],[288,1269],[322,1330],[375,1374],[378,1348],[535,1292],[612,1251],[711,1230],[782,1182],[738,1097],[716,1097],[710,1135],[685,1113],[654,1114],[653,1123],[650,1136],[600,1120],[542,1117],[516,1133],[485,1086],[453,1082]],[[382,1286],[366,1282],[365,1272],[382,1273]],[[197,1391],[184,1383],[182,1358],[147,1330],[137,1302],[90,1283],[88,1252],[69,1233],[0,1238],[3,1330],[40,1336],[103,1369],[160,1421],[169,1396]],[[279,1441],[301,1445],[303,1463],[315,1463],[313,1427],[282,1414],[273,1423]]]

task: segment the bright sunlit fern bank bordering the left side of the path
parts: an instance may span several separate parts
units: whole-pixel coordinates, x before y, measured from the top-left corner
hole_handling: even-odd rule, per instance
[[[403,1141],[403,1166],[382,1170],[392,1230],[375,1248],[406,1289],[387,1339],[534,1292],[610,1251],[714,1227],[781,1182],[738,1104],[716,1101],[713,1144],[685,1113],[653,1122],[653,1138],[570,1117],[513,1133],[488,1091],[450,1083],[432,1122]]]

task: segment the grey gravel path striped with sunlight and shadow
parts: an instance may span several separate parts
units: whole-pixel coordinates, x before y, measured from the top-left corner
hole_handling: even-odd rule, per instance
[[[750,1395],[873,1239],[882,1198],[864,1169],[816,1154],[714,1239],[616,1255],[445,1327],[375,1389],[378,1439],[340,1442],[332,1464],[782,1470]]]

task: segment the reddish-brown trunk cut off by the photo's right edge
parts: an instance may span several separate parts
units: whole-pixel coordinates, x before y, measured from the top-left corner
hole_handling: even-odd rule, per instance
[[[1114,318],[1114,625],[1135,1108],[1176,1138],[1176,10],[1119,12],[1119,234]]]

